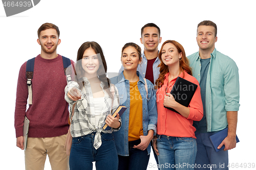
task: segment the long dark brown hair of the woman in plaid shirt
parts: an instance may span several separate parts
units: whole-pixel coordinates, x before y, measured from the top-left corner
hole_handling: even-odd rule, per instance
[[[110,80],[106,77],[106,60],[102,51],[102,48],[100,47],[100,45],[97,42],[94,41],[87,41],[84,42],[80,48],[78,49],[77,52],[77,59],[76,59],[76,76],[77,76],[77,83],[79,85],[80,90],[82,89],[84,82],[83,82],[83,77],[84,77],[84,70],[82,68],[82,57],[83,57],[83,53],[84,51],[87,50],[87,48],[92,48],[94,50],[94,52],[97,54],[98,56],[98,60],[99,60],[99,68],[97,70],[97,75],[98,78],[101,82],[104,83],[104,89],[106,90],[106,92],[109,93],[109,95],[112,98],[112,94],[110,92]]]

